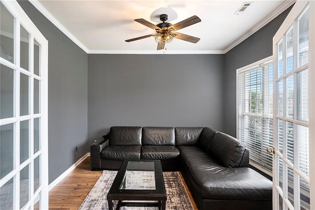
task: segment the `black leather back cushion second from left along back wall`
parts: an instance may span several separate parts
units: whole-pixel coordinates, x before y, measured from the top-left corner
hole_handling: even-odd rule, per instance
[[[175,146],[173,127],[143,127],[142,145],[171,145]]]

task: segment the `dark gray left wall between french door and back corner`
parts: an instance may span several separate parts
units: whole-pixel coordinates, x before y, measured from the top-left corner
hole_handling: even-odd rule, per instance
[[[18,1],[48,40],[49,183],[86,154],[88,55],[29,1]],[[75,146],[78,151],[75,152]]]

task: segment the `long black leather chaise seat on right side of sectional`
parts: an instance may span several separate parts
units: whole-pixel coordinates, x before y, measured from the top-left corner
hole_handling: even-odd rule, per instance
[[[272,181],[248,167],[223,167],[207,152],[180,146],[184,168],[200,195],[210,199],[271,200]]]

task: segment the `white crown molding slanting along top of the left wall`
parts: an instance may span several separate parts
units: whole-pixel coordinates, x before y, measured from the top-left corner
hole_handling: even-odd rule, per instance
[[[70,31],[68,31],[52,14],[50,14],[40,3],[38,0],[29,0],[32,5],[41,12],[50,22],[52,22],[59,30],[61,30],[69,39],[71,39],[76,45],[78,45],[82,50],[86,53],[89,52],[89,49],[84,46]]]

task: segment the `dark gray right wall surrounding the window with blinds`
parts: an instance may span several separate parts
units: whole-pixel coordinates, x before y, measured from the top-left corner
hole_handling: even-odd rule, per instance
[[[224,132],[236,137],[236,69],[272,56],[272,38],[292,7],[227,52],[224,57]]]

